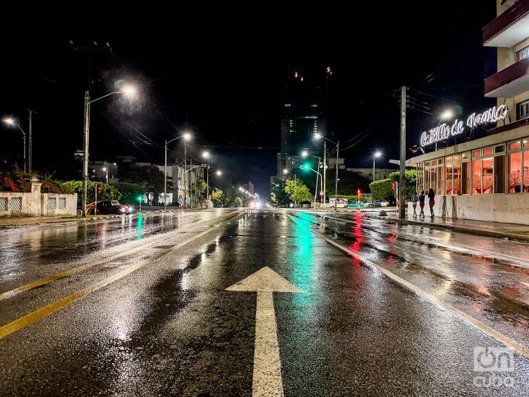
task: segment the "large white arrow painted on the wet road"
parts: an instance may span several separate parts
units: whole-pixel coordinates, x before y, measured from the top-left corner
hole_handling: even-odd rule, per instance
[[[226,288],[226,291],[257,292],[255,312],[255,350],[253,357],[253,396],[284,396],[281,358],[277,341],[274,292],[305,291],[294,286],[269,267]]]

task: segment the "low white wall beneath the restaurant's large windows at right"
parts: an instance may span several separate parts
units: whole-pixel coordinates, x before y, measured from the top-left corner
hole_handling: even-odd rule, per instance
[[[417,209],[419,213],[419,206]],[[408,214],[413,214],[411,202],[408,202],[408,211],[411,211]],[[435,196],[434,214],[452,219],[529,225],[529,194],[437,195]],[[428,197],[425,200],[425,215],[430,216]]]

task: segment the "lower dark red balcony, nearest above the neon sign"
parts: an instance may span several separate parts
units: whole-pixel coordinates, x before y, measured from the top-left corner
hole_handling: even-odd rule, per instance
[[[485,79],[485,97],[512,98],[526,91],[529,91],[529,58]]]

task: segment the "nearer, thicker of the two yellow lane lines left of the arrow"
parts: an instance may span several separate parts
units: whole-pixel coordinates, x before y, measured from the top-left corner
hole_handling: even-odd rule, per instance
[[[231,218],[232,216],[229,216],[229,218]],[[164,255],[169,254],[169,252],[178,250],[178,248],[181,248],[184,245],[188,245],[193,240],[197,240],[197,238],[200,238],[211,231],[217,230],[219,225],[220,224],[217,224],[216,227],[214,228],[207,228],[207,230],[202,231],[201,233],[198,233],[197,235],[193,236],[192,238],[189,238],[186,241],[183,241],[182,243],[178,245],[174,245],[173,247],[168,248],[167,250],[159,252],[157,255],[154,255],[148,259],[143,260],[142,262],[139,262],[138,264],[134,264],[128,267],[127,269],[119,271],[118,273],[114,274],[114,276],[109,276],[107,277],[107,279],[104,279],[102,281],[99,281],[98,283],[92,284],[92,286],[88,286],[86,288],[83,288],[80,291],[77,291],[75,293],[72,293],[71,295],[66,296],[66,298],[56,300],[54,303],[50,303],[49,305],[41,307],[40,309],[37,309],[34,312],[25,314],[25,316],[20,317],[16,320],[13,320],[12,322],[4,326],[0,326],[0,339],[10,334],[13,334],[13,332],[23,329],[25,326],[28,326],[30,324],[33,324],[34,322],[37,322],[39,319],[42,319],[42,317],[47,316],[48,314],[54,313],[57,310],[61,310],[63,307],[66,307],[70,305],[71,303],[75,302],[75,300],[84,298],[86,295],[89,295],[90,293],[95,292],[99,290],[100,288],[103,288],[104,286],[108,286],[110,283],[114,283],[114,281],[122,279],[123,277],[127,276],[133,271],[136,271],[144,267],[146,264],[149,264],[150,262],[156,259],[159,259],[160,257],[163,257]]]

